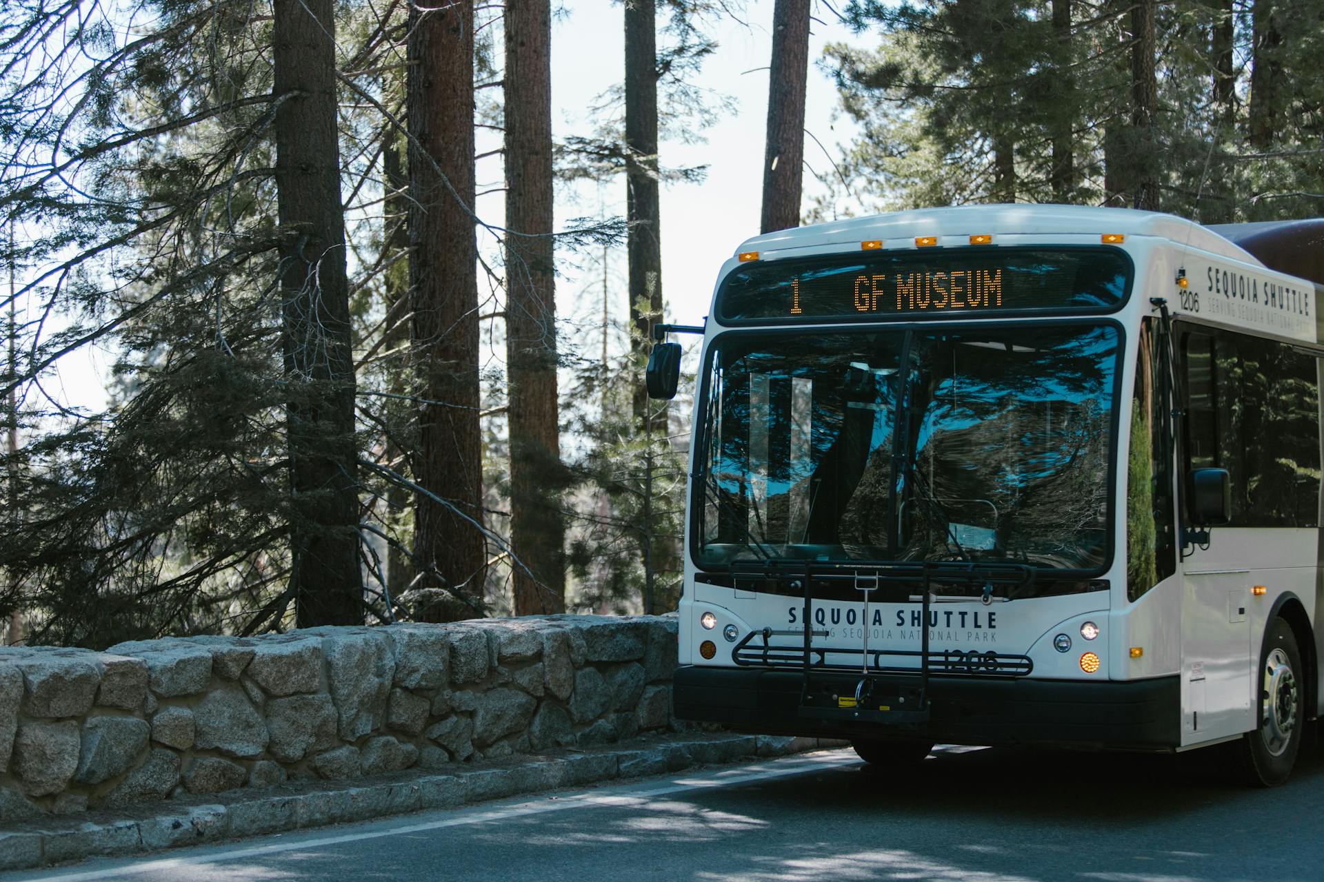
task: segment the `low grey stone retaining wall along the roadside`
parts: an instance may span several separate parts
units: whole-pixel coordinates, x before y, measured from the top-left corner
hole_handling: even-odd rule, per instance
[[[0,821],[674,729],[673,616],[0,648]]]

